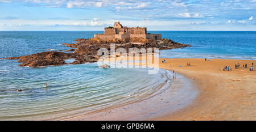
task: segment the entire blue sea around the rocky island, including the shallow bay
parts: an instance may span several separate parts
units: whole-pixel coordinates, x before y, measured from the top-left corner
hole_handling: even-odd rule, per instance
[[[160,50],[160,58],[256,59],[256,32],[148,31],[190,44]],[[90,38],[102,31],[0,31],[0,58],[70,49],[64,42]],[[133,103],[154,95],[171,80],[159,70],[101,69],[96,63],[20,67],[17,60],[0,59],[0,120],[61,120]],[[43,87],[44,84],[49,87]],[[18,92],[17,89],[23,91]]]

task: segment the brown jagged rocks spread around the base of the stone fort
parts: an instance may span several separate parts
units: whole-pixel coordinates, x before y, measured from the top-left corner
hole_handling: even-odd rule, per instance
[[[146,50],[147,48],[158,48],[159,50],[163,50],[190,46],[186,44],[180,44],[169,39],[155,41],[139,37],[126,37],[123,40],[114,39],[109,41],[104,41],[97,38],[76,39],[75,41],[75,44],[63,44],[72,48],[69,50],[65,50],[65,52],[75,51],[74,53],[51,51],[31,54],[28,56],[9,57],[6,59],[19,59],[18,62],[22,62],[22,64],[20,64],[19,66],[38,67],[49,65],[65,65],[66,63],[64,59],[66,58],[76,59],[76,61],[72,62],[71,64],[97,62],[98,58],[100,57],[97,55],[97,51],[100,48],[106,48],[107,50],[109,50],[110,53],[111,43],[115,44],[115,49],[123,48],[126,49],[127,52],[129,51],[129,48],[145,48]],[[152,52],[154,52],[154,50]]]

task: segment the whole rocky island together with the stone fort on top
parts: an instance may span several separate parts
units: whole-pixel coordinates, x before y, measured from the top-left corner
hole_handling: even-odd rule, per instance
[[[146,28],[122,27],[119,22],[115,23],[114,27],[105,28],[104,34],[94,35],[90,39],[76,39],[74,41],[76,41],[75,44],[63,44],[72,48],[65,52],[73,53],[49,51],[5,59],[18,59],[18,62],[22,62],[19,66],[39,67],[65,65],[67,63],[64,59],[68,58],[76,59],[69,64],[97,62],[98,58],[100,58],[97,55],[98,49],[106,48],[110,53],[110,44],[112,43],[115,44],[115,49],[123,48],[127,51],[129,48],[158,48],[159,50],[163,50],[190,46],[169,39],[162,39],[159,34],[147,33]]]

